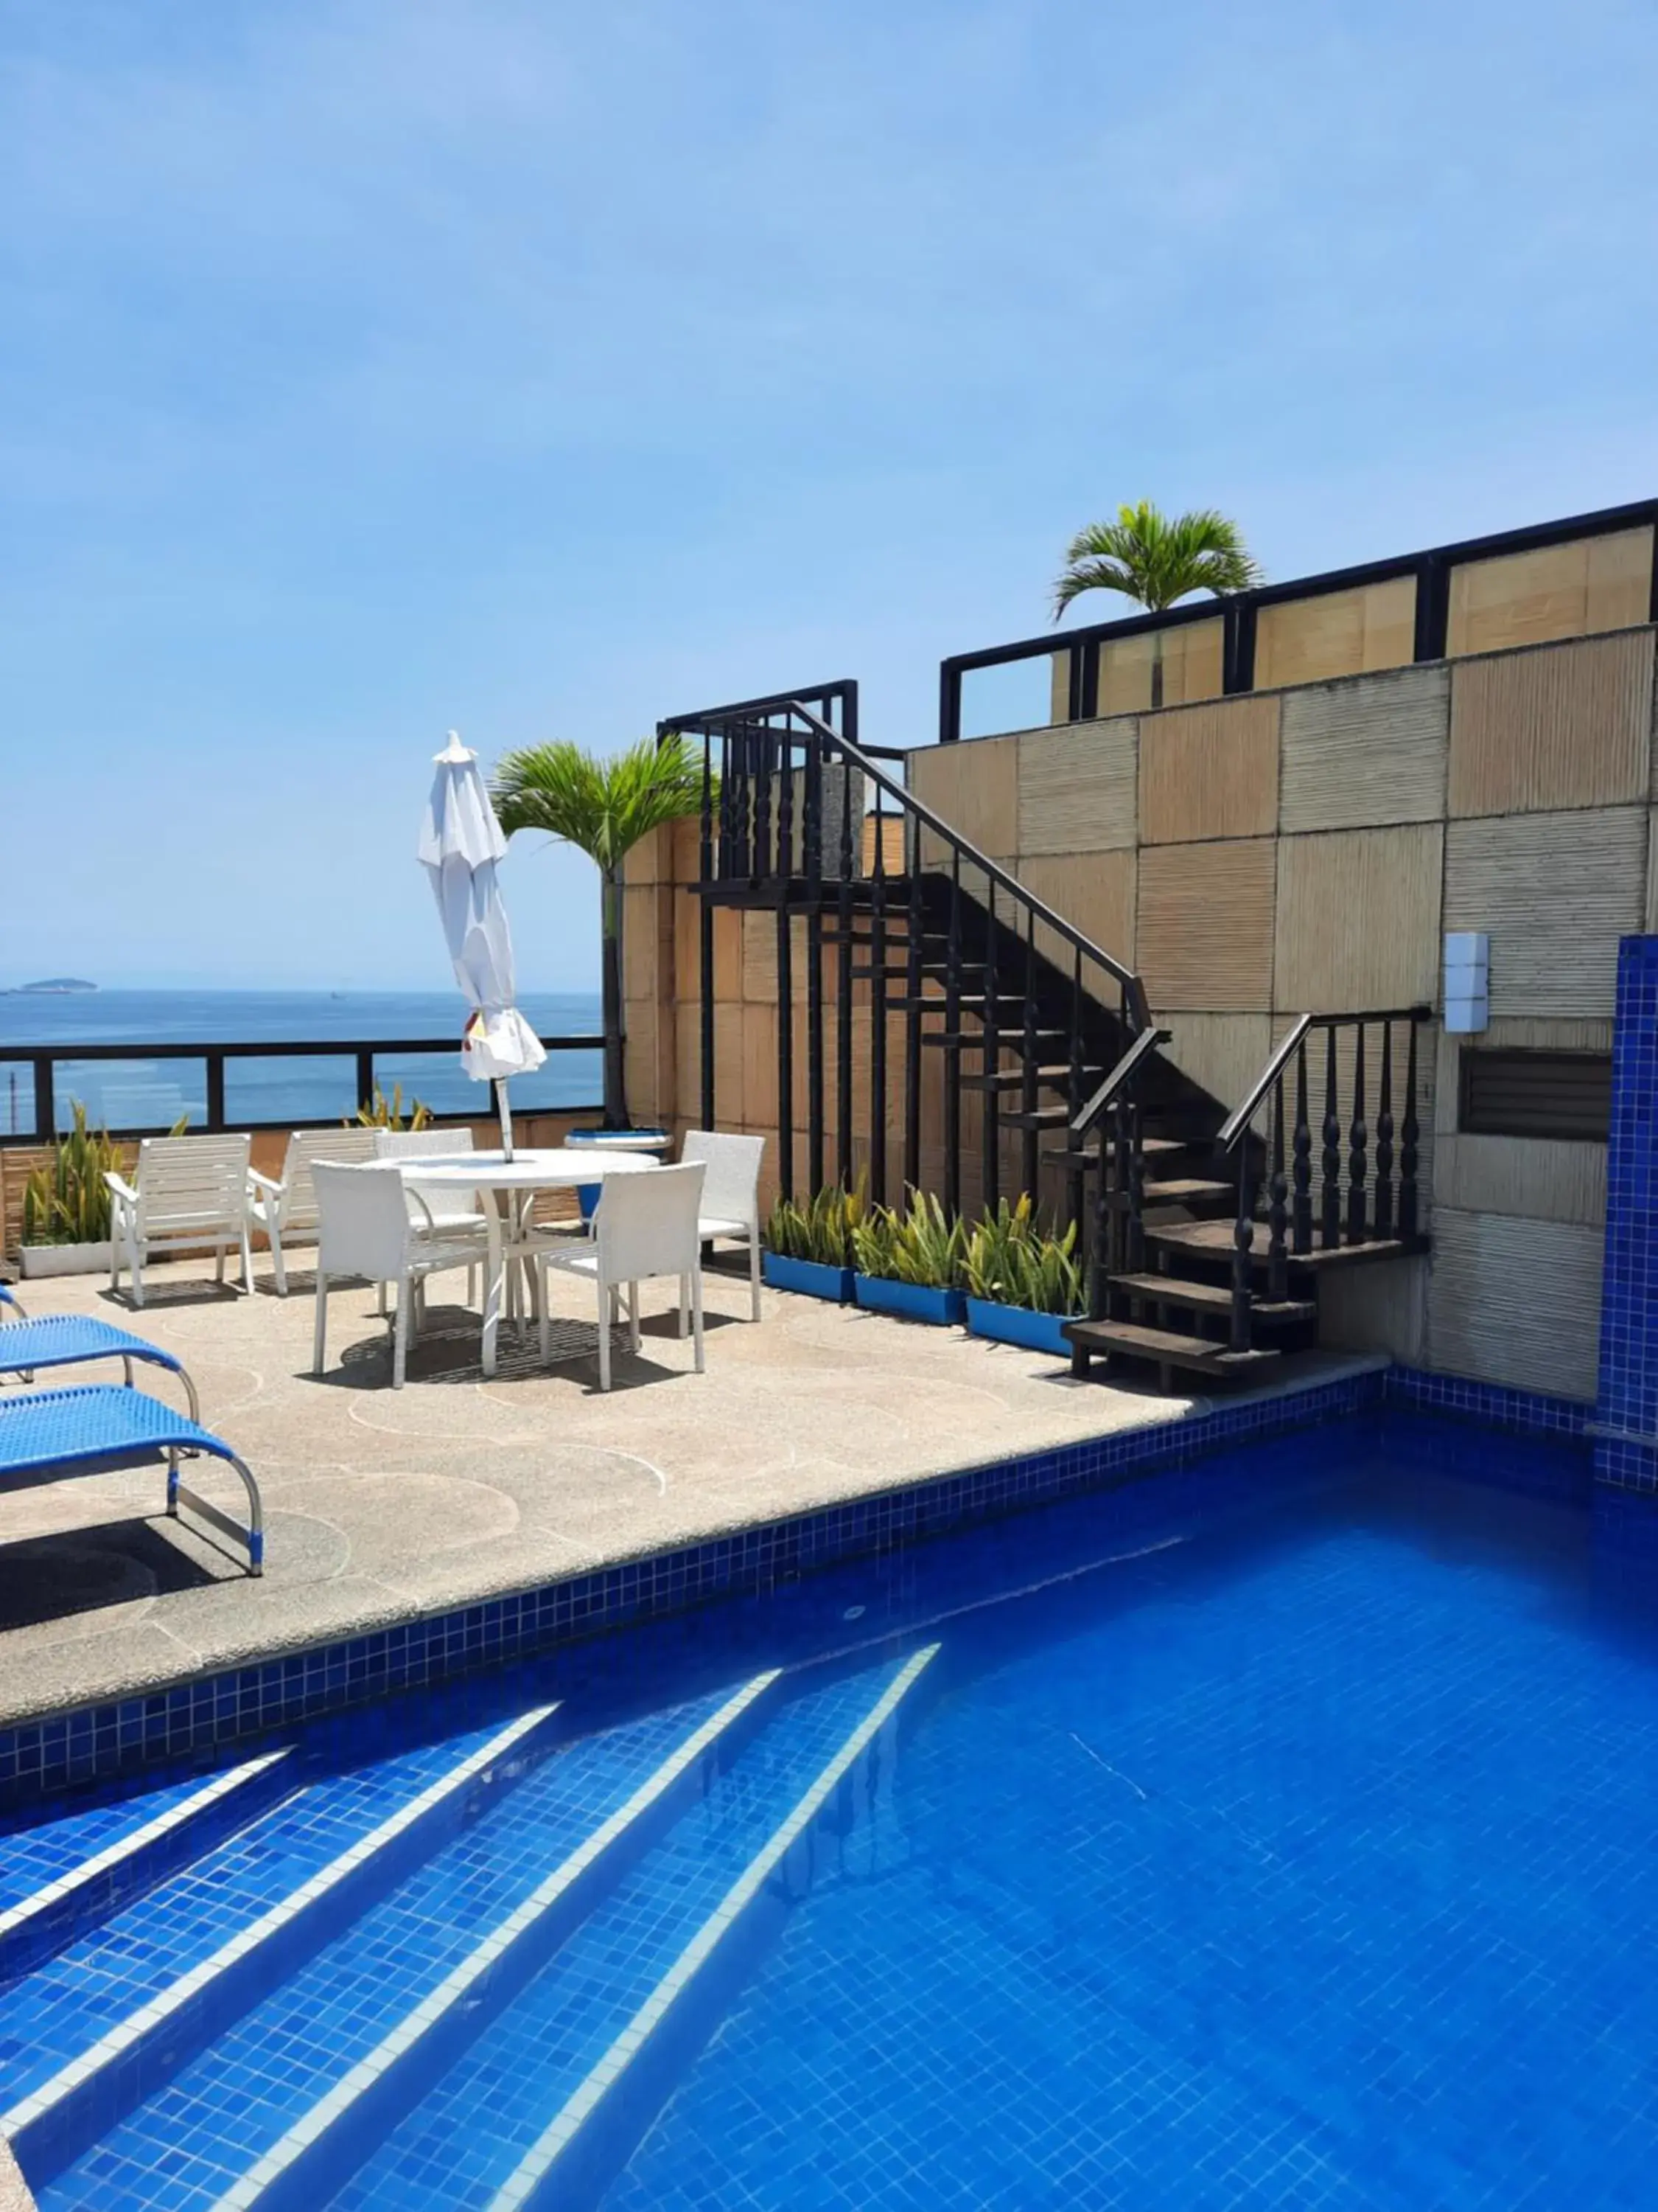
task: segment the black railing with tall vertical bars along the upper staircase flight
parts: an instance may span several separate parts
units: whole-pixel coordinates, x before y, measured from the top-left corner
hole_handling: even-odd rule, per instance
[[[838,681],[805,692],[778,692],[736,706],[705,708],[659,723],[703,741],[703,807],[699,876],[701,916],[701,1088],[703,1119],[714,1126],[714,905],[776,909],[778,1022],[778,1181],[794,1192],[794,918],[807,933],[807,1179],[825,1181],[825,947],[836,962],[836,1172],[853,1177],[853,984],[869,989],[869,1186],[886,1197],[889,1150],[889,1015],[904,1015],[902,1128],[904,1183],[922,1186],[922,1053],[944,1055],[942,1197],[962,1203],[962,1093],[982,1108],[982,1199],[995,1206],[1001,1177],[1001,1130],[1021,1133],[1021,1181],[1037,1188],[1037,1137],[1063,1128],[1081,1108],[1090,1077],[1085,1035],[1094,1009],[1114,1009],[1119,1035],[1150,1026],[1138,975],[1085,938],[1070,920],[1026,889],[920,801],[882,761],[902,752],[858,743],[858,686]],[[869,867],[864,823],[873,816]],[[898,825],[900,838],[889,838]],[[902,874],[889,865],[902,841]],[[1059,995],[1054,960],[1037,942],[1046,931],[1061,947]],[[862,960],[856,960],[862,953]],[[1048,1006],[1039,984],[1048,982]],[[898,995],[889,995],[898,984]],[[1061,1020],[1063,1015],[1063,1020]],[[928,1026],[942,1022],[942,1026]],[[964,1071],[964,1060],[970,1066]],[[1043,1066],[1043,1060],[1048,1066]],[[1043,1088],[1066,1106],[1041,1106]],[[1006,1113],[1004,1093],[1017,1095]],[[1081,1212],[1081,1172],[1068,1183],[1072,1217]]]

